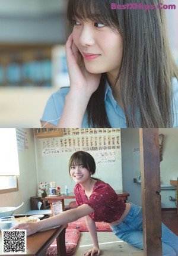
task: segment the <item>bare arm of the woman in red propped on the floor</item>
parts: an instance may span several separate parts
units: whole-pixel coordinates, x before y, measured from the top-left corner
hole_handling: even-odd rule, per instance
[[[88,227],[88,230],[90,232],[91,238],[93,240],[93,248],[89,249],[87,252],[85,252],[85,256],[91,255],[93,256],[94,254],[97,253],[97,255],[100,255],[100,249],[98,245],[98,236],[97,236],[97,229],[96,229],[96,224],[90,216],[85,216],[85,221]]]

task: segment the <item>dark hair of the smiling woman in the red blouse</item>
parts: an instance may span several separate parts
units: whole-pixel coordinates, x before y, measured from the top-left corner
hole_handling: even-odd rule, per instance
[[[71,170],[71,166],[73,164],[76,164],[76,165],[82,164],[82,166],[84,166],[90,172],[91,175],[95,174],[96,172],[96,163],[92,155],[90,155],[88,152],[77,151],[71,155],[71,158],[69,159],[69,173]],[[100,180],[94,177],[92,177],[92,179]]]

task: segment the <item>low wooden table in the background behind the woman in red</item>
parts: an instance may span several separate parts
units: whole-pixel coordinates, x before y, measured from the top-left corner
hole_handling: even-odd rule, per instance
[[[115,192],[117,193],[117,195],[119,195],[119,197],[122,199],[122,201],[126,202],[126,200],[128,199],[129,193],[124,191],[124,190],[115,190]],[[61,201],[62,202],[62,211],[65,211],[65,204],[64,204],[64,200],[65,199],[75,199],[75,194],[74,192],[69,193],[69,195],[61,195],[61,196],[46,196],[47,202],[49,202],[50,204],[50,209],[53,213],[53,209],[52,209],[52,203],[53,202],[58,202]]]

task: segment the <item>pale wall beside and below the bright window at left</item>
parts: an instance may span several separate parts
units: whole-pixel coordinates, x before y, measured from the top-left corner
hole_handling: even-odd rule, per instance
[[[30,196],[37,193],[36,158],[34,152],[33,129],[27,130],[28,150],[18,150],[20,176],[18,177],[18,191],[0,194],[1,207],[17,207],[24,202],[23,207],[15,214],[25,213],[30,210]],[[9,161],[10,157],[9,157]]]

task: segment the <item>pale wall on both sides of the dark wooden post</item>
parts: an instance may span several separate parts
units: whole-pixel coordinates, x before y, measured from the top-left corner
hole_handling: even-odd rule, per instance
[[[178,130],[160,129],[159,133],[165,135],[163,161],[160,163],[161,181],[163,185],[169,185],[171,177],[178,176]],[[121,129],[121,138],[123,189],[130,193],[128,201],[141,205],[141,185],[133,182],[140,173],[140,157],[133,154],[133,148],[139,148],[139,129]],[[169,201],[169,196],[175,198],[175,191],[161,190],[163,208],[176,207]]]

